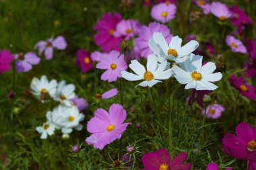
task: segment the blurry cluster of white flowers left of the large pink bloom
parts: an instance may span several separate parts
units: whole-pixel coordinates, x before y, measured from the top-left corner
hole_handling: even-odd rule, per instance
[[[63,134],[70,134],[75,130],[82,130],[84,114],[81,114],[71,99],[75,97],[75,85],[66,84],[65,81],[57,83],[55,79],[49,81],[45,75],[40,79],[34,77],[30,84],[31,93],[40,99],[42,103],[54,99],[60,105],[46,114],[47,122],[38,126],[36,130],[41,134],[42,139],[47,135],[54,134],[55,129],[61,129]]]

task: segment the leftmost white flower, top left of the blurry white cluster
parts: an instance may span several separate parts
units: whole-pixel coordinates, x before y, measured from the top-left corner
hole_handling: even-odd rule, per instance
[[[43,101],[49,97],[54,97],[57,90],[57,81],[53,79],[49,82],[45,75],[41,79],[34,77],[30,83],[30,89],[33,95]]]

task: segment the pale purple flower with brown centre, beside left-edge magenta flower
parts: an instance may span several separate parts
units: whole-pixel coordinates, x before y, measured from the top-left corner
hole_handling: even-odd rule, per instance
[[[34,52],[27,52],[26,54],[15,54],[14,58],[15,69],[18,73],[28,72],[32,69],[32,65],[38,65],[40,58]]]

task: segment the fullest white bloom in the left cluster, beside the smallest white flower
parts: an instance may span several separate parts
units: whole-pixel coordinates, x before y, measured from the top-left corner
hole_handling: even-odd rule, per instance
[[[57,129],[61,129],[63,134],[69,134],[75,130],[82,130],[83,125],[79,124],[84,120],[84,114],[80,114],[76,106],[67,107],[59,105],[52,112],[47,112],[47,120],[53,122]]]

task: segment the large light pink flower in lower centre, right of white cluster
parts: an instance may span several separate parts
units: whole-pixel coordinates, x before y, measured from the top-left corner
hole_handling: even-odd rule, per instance
[[[102,149],[106,144],[121,138],[122,133],[131,124],[123,123],[126,119],[126,111],[122,105],[113,103],[108,112],[104,109],[97,109],[94,112],[94,118],[87,124],[88,132],[92,133],[88,142],[93,144],[94,148]],[[92,138],[94,138],[94,142],[92,142]]]

